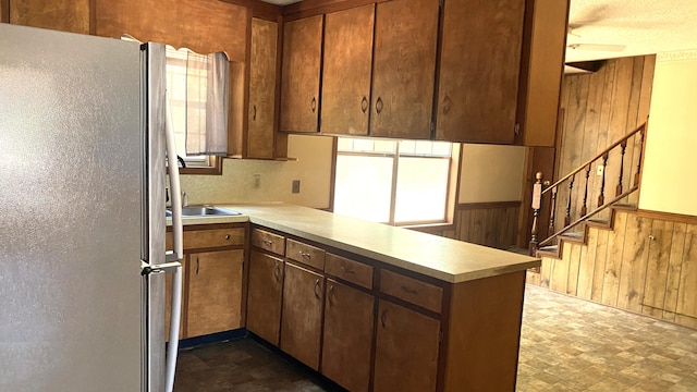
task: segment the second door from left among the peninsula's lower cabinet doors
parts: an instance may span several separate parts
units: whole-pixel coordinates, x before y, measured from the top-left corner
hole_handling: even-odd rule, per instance
[[[323,275],[285,264],[280,347],[315,370],[319,369],[323,298]]]

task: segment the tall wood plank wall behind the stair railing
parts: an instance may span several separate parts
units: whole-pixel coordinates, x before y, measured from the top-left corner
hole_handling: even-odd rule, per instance
[[[612,143],[622,138],[649,114],[656,56],[608,60],[592,74],[564,76],[561,108],[564,112],[561,144],[557,154],[557,175],[560,179]],[[650,132],[650,126],[649,126]],[[639,138],[629,140],[624,157],[624,189],[636,172]],[[598,164],[591,167],[588,179],[588,211],[597,207],[601,176]],[[614,197],[620,176],[620,149],[614,149],[606,167],[606,200]],[[583,173],[583,172],[582,172]],[[572,197],[572,221],[579,218],[585,175],[576,176]],[[563,222],[568,188],[560,188],[557,199],[557,229]],[[636,194],[629,201],[636,201]],[[607,213],[604,215],[607,217]]]

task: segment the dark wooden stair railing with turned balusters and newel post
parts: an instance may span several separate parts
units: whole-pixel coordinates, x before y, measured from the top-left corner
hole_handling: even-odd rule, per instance
[[[627,195],[629,195],[631,193],[639,188],[639,179],[640,179],[640,172],[641,172],[641,155],[644,154],[644,144],[646,143],[647,123],[648,122],[645,122],[644,124],[637,126],[634,131],[629,132],[624,137],[611,144],[608,148],[606,148],[604,150],[596,155],[596,157],[589,159],[588,161],[586,161],[585,163],[576,168],[574,171],[564,175],[562,179],[547,186],[543,189],[542,189],[542,173],[538,172],[536,174],[536,182],[533,185],[533,206],[531,207],[533,207],[534,218],[533,218],[533,229],[530,231],[531,236],[530,236],[530,244],[529,244],[529,250],[531,256],[535,256],[537,254],[537,250],[540,247],[551,244],[551,242],[555,240],[558,236],[568,232],[579,223],[585,222],[589,218],[598,215],[600,211],[614,205],[615,203],[620,201],[622,198],[626,197]],[[625,184],[626,179],[624,177],[624,167],[625,167],[624,161],[625,161],[627,140],[629,140],[629,138],[634,137],[637,134],[639,137],[639,143],[636,146],[636,148],[638,149],[636,171],[634,172],[633,176],[629,176],[627,184]],[[609,180],[607,179],[607,168],[610,159],[610,152],[617,147],[620,152],[620,158],[617,163],[620,168],[617,184],[614,187],[615,189],[614,196],[612,196],[609,200],[606,200],[607,198],[606,185]],[[597,197],[597,205],[595,209],[590,209],[588,206],[589,204],[588,200],[589,200],[589,196],[592,195],[592,192],[595,189],[589,188],[589,177],[590,177],[591,167],[596,162],[601,162],[600,166],[602,167],[602,173],[599,174],[601,175],[601,180],[600,180],[600,188]],[[577,174],[578,174],[578,180],[585,180],[585,181],[584,181],[584,189],[583,189],[583,201],[582,201],[580,208],[578,208],[578,217],[576,219],[573,219],[574,218],[573,196],[574,196],[574,186],[576,183]],[[562,184],[564,183],[565,185],[562,186]],[[563,189],[563,188],[567,188],[567,196],[568,196],[566,200],[566,206],[563,211],[565,212],[564,219],[563,219],[564,225],[562,229],[554,232],[555,224],[560,220],[560,218],[557,217],[558,194],[560,193],[560,189]],[[549,232],[553,234],[542,241],[539,241],[538,240],[538,231],[539,231],[538,219],[539,219],[539,213],[542,205],[542,197],[546,194],[550,195]],[[590,211],[588,211],[589,209]],[[559,211],[559,212],[562,212],[562,211]]]

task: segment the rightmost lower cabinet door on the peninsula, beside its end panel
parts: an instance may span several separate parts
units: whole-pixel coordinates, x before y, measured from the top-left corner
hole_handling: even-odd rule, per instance
[[[436,391],[440,321],[380,299],[374,391]]]

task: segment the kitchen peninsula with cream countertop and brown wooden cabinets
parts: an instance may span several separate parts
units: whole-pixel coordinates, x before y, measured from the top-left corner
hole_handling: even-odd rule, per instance
[[[185,238],[244,243],[236,326],[351,391],[515,389],[538,259],[286,204],[219,207],[242,215],[185,218]]]

